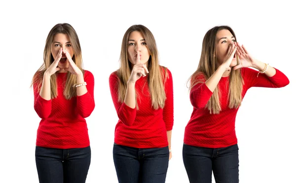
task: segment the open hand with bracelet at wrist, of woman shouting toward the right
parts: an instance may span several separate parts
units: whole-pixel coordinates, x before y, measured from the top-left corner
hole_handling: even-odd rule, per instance
[[[236,45],[236,56],[239,59],[239,65],[234,66],[233,70],[237,70],[239,68],[249,68],[254,67],[256,60],[248,53],[244,45],[240,45],[238,42],[234,42]]]

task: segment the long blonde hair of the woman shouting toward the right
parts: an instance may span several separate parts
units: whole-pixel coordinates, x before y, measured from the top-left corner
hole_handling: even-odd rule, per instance
[[[213,75],[215,71],[218,69],[218,59],[214,56],[216,54],[216,35],[220,30],[224,29],[228,30],[233,35],[236,41],[236,37],[233,30],[228,26],[216,26],[206,33],[202,42],[202,50],[198,68],[188,79],[188,81],[191,81],[190,90],[197,83],[205,82],[205,80],[209,79],[209,77],[211,77],[211,75]],[[203,74],[204,79],[198,77],[199,74]],[[228,107],[230,109],[236,109],[241,105],[242,102],[243,78],[240,69],[235,71],[231,70],[228,87]],[[220,97],[221,95],[218,85],[215,88],[213,95],[211,96],[210,100],[206,105],[206,108],[210,110],[210,113],[220,113]]]

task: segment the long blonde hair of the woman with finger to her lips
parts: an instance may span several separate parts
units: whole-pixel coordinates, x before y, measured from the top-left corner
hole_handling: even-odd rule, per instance
[[[146,40],[147,48],[150,54],[148,60],[148,87],[151,97],[151,107],[157,110],[164,107],[166,94],[164,91],[164,82],[168,77],[165,67],[159,66],[158,52],[156,48],[156,42],[152,33],[143,25],[133,25],[124,34],[121,44],[120,53],[120,68],[117,70],[118,80],[118,101],[123,102],[127,89],[127,81],[133,70],[132,64],[128,60],[128,38],[130,34],[134,31],[140,32]],[[137,98],[137,91],[136,91]],[[137,100],[136,107],[139,109]]]

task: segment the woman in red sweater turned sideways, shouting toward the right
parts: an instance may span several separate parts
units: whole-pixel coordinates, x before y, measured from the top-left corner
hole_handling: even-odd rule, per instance
[[[238,183],[235,117],[242,99],[250,87],[278,88],[289,80],[254,59],[227,26],[206,33],[197,71],[190,78],[193,112],[183,146],[189,181],[212,183],[213,171],[216,183]]]

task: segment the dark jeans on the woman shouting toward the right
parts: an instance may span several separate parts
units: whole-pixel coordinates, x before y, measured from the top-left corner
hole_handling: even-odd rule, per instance
[[[183,162],[190,183],[238,183],[238,146],[206,148],[183,145]]]

